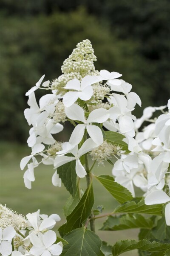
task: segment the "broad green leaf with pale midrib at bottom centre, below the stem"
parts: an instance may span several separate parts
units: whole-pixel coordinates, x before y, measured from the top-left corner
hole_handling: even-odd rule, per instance
[[[63,248],[61,256],[104,256],[100,249],[102,241],[85,227],[71,231],[64,239],[68,244]]]

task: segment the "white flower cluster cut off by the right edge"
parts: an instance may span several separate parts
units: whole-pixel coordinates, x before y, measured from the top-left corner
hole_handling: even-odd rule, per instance
[[[168,107],[168,111],[164,111]],[[153,113],[161,115],[152,118]],[[138,131],[143,122],[148,123]],[[161,107],[147,107],[141,118],[134,122],[135,139],[126,137],[131,151],[121,155],[112,173],[116,182],[135,195],[134,186],[142,189],[145,204],[166,204],[165,219],[170,226],[170,100]],[[129,140],[130,139],[130,140]]]

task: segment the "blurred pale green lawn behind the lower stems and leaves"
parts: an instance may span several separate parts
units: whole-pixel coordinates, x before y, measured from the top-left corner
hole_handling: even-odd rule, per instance
[[[40,165],[35,169],[36,180],[32,183],[32,189],[24,186],[23,173],[20,170],[20,160],[22,157],[30,154],[26,145],[17,145],[10,143],[0,143],[0,203],[7,207],[26,215],[28,212],[35,212],[40,209],[43,214],[57,213],[61,217],[61,223],[65,222],[63,206],[69,197],[69,193],[62,185],[61,188],[54,187],[51,183],[51,177],[54,169],[51,166]],[[96,167],[94,173],[102,174],[103,166]],[[111,174],[111,166],[104,167],[105,174]],[[86,180],[82,180],[82,187],[85,189]],[[102,204],[105,207],[104,212],[111,212],[118,205],[113,197],[94,180],[94,208]],[[137,239],[139,230],[123,231],[99,231],[105,218],[96,221],[97,234],[104,241],[114,244],[119,239]],[[124,256],[137,256],[137,251],[122,254]]]

